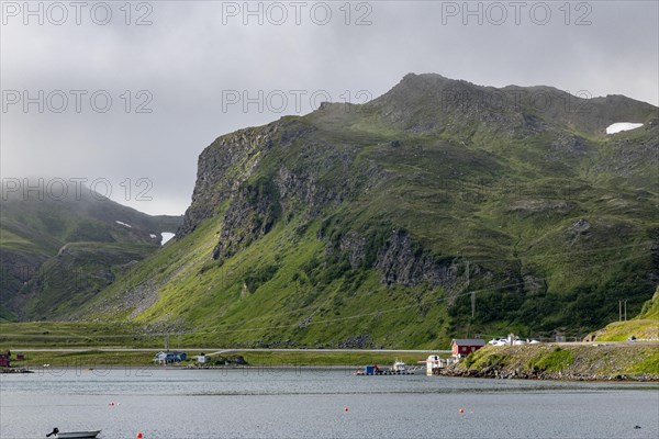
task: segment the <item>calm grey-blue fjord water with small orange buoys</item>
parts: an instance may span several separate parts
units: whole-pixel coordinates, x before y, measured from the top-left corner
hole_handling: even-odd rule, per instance
[[[104,439],[659,437],[659,386],[647,383],[326,369],[66,369],[0,380],[2,439],[53,427],[102,429]]]

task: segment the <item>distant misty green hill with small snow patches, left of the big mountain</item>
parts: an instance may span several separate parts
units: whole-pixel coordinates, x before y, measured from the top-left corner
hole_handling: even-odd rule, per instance
[[[71,184],[0,201],[0,318],[63,318],[159,248],[177,216],[149,216]],[[41,198],[41,199],[40,199]]]

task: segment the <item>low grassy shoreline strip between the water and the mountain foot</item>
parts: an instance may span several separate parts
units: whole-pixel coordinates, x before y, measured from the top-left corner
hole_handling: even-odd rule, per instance
[[[57,348],[54,348],[57,349]],[[62,349],[62,348],[60,348]],[[182,363],[157,364],[152,361],[150,352],[144,351],[103,351],[101,349],[63,352],[49,350],[30,352],[31,358],[16,362],[14,370],[2,373],[30,372],[77,374],[94,372],[108,373],[122,370],[126,373],[153,371],[213,370],[259,372],[263,371],[345,371],[361,370],[365,364],[380,364],[388,369],[394,362],[390,352],[370,351],[242,351],[226,350],[213,353],[205,363],[197,363],[196,352],[189,351],[189,359]],[[206,356],[209,359],[209,356]],[[418,353],[396,354],[410,367],[425,363]],[[423,371],[425,374],[425,364]],[[659,382],[659,344],[618,342],[618,344],[537,344],[522,346],[485,346],[459,362],[436,370],[439,376],[518,379],[543,381],[580,382]]]

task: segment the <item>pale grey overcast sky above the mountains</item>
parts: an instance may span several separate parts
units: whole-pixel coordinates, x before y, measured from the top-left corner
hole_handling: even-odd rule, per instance
[[[327,98],[365,102],[407,72],[659,101],[654,0],[248,9],[2,1],[2,181],[86,179],[143,212],[182,214],[215,137]]]

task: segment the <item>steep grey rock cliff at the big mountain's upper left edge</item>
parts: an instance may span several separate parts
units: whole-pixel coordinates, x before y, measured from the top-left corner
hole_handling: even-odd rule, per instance
[[[295,215],[313,221],[383,178],[372,164],[355,165],[357,146],[301,142],[315,130],[297,121],[279,121],[217,138],[199,158],[192,204],[177,235],[191,233],[228,203],[217,217],[221,232],[213,251],[213,258],[222,260],[269,233],[278,221]],[[287,151],[293,145],[291,159]],[[264,160],[270,165],[265,170]],[[332,178],[324,178],[328,173]]]

